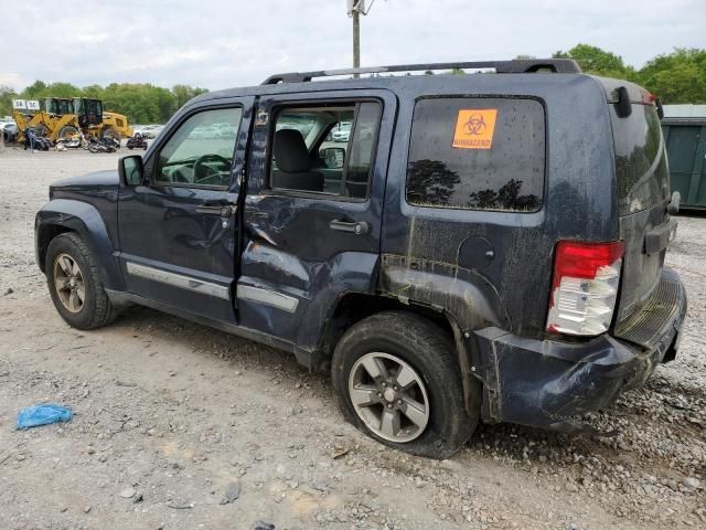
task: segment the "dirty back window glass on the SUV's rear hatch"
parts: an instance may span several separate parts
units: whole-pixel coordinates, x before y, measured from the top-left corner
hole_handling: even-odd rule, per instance
[[[619,213],[640,212],[670,197],[660,118],[652,105],[632,105],[625,118],[611,110]]]

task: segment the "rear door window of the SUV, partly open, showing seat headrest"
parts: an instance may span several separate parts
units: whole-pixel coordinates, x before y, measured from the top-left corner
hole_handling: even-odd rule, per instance
[[[381,113],[382,106],[374,102],[280,110],[270,188],[365,199]]]

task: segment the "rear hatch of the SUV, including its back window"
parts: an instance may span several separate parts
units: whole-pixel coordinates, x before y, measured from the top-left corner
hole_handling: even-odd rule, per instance
[[[667,214],[666,151],[654,97],[632,83],[600,81],[610,108],[620,239],[625,244],[614,332],[651,346],[654,337],[644,330],[635,335],[634,328],[643,320],[641,312],[653,307],[659,301],[653,298],[664,290],[657,286],[663,282],[666,246],[676,230]]]

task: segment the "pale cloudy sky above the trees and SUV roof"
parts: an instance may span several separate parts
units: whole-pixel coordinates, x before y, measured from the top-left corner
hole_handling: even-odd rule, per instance
[[[350,67],[345,3],[0,0],[0,85],[218,89]],[[375,0],[361,18],[362,66],[542,57],[579,42],[637,67],[674,47],[706,47],[706,0]]]

